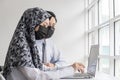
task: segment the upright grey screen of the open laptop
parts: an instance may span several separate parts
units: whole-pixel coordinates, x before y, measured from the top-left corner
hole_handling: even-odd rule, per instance
[[[92,76],[95,76],[98,54],[99,54],[99,46],[92,45],[88,57],[88,67],[87,67],[87,73],[91,74]]]

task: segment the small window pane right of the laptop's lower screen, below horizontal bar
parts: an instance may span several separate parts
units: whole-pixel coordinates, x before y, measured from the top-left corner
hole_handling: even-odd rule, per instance
[[[109,59],[101,59],[100,58],[100,63],[99,64],[100,64],[100,66],[99,66],[100,72],[104,72],[104,73],[107,73],[107,74],[110,73]]]

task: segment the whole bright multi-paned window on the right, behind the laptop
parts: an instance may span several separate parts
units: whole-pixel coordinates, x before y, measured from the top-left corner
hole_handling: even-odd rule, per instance
[[[120,79],[120,0],[89,0],[87,6],[87,48],[99,44],[98,70]]]

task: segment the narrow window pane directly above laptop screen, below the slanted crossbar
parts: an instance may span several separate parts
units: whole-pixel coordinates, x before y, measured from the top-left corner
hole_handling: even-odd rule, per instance
[[[89,51],[91,45],[95,45],[95,44],[98,44],[98,31],[89,34]]]

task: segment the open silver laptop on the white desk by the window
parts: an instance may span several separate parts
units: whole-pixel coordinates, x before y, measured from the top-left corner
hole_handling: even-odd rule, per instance
[[[92,45],[88,57],[87,73],[74,73],[71,76],[61,77],[60,79],[89,79],[95,77],[99,46]]]

